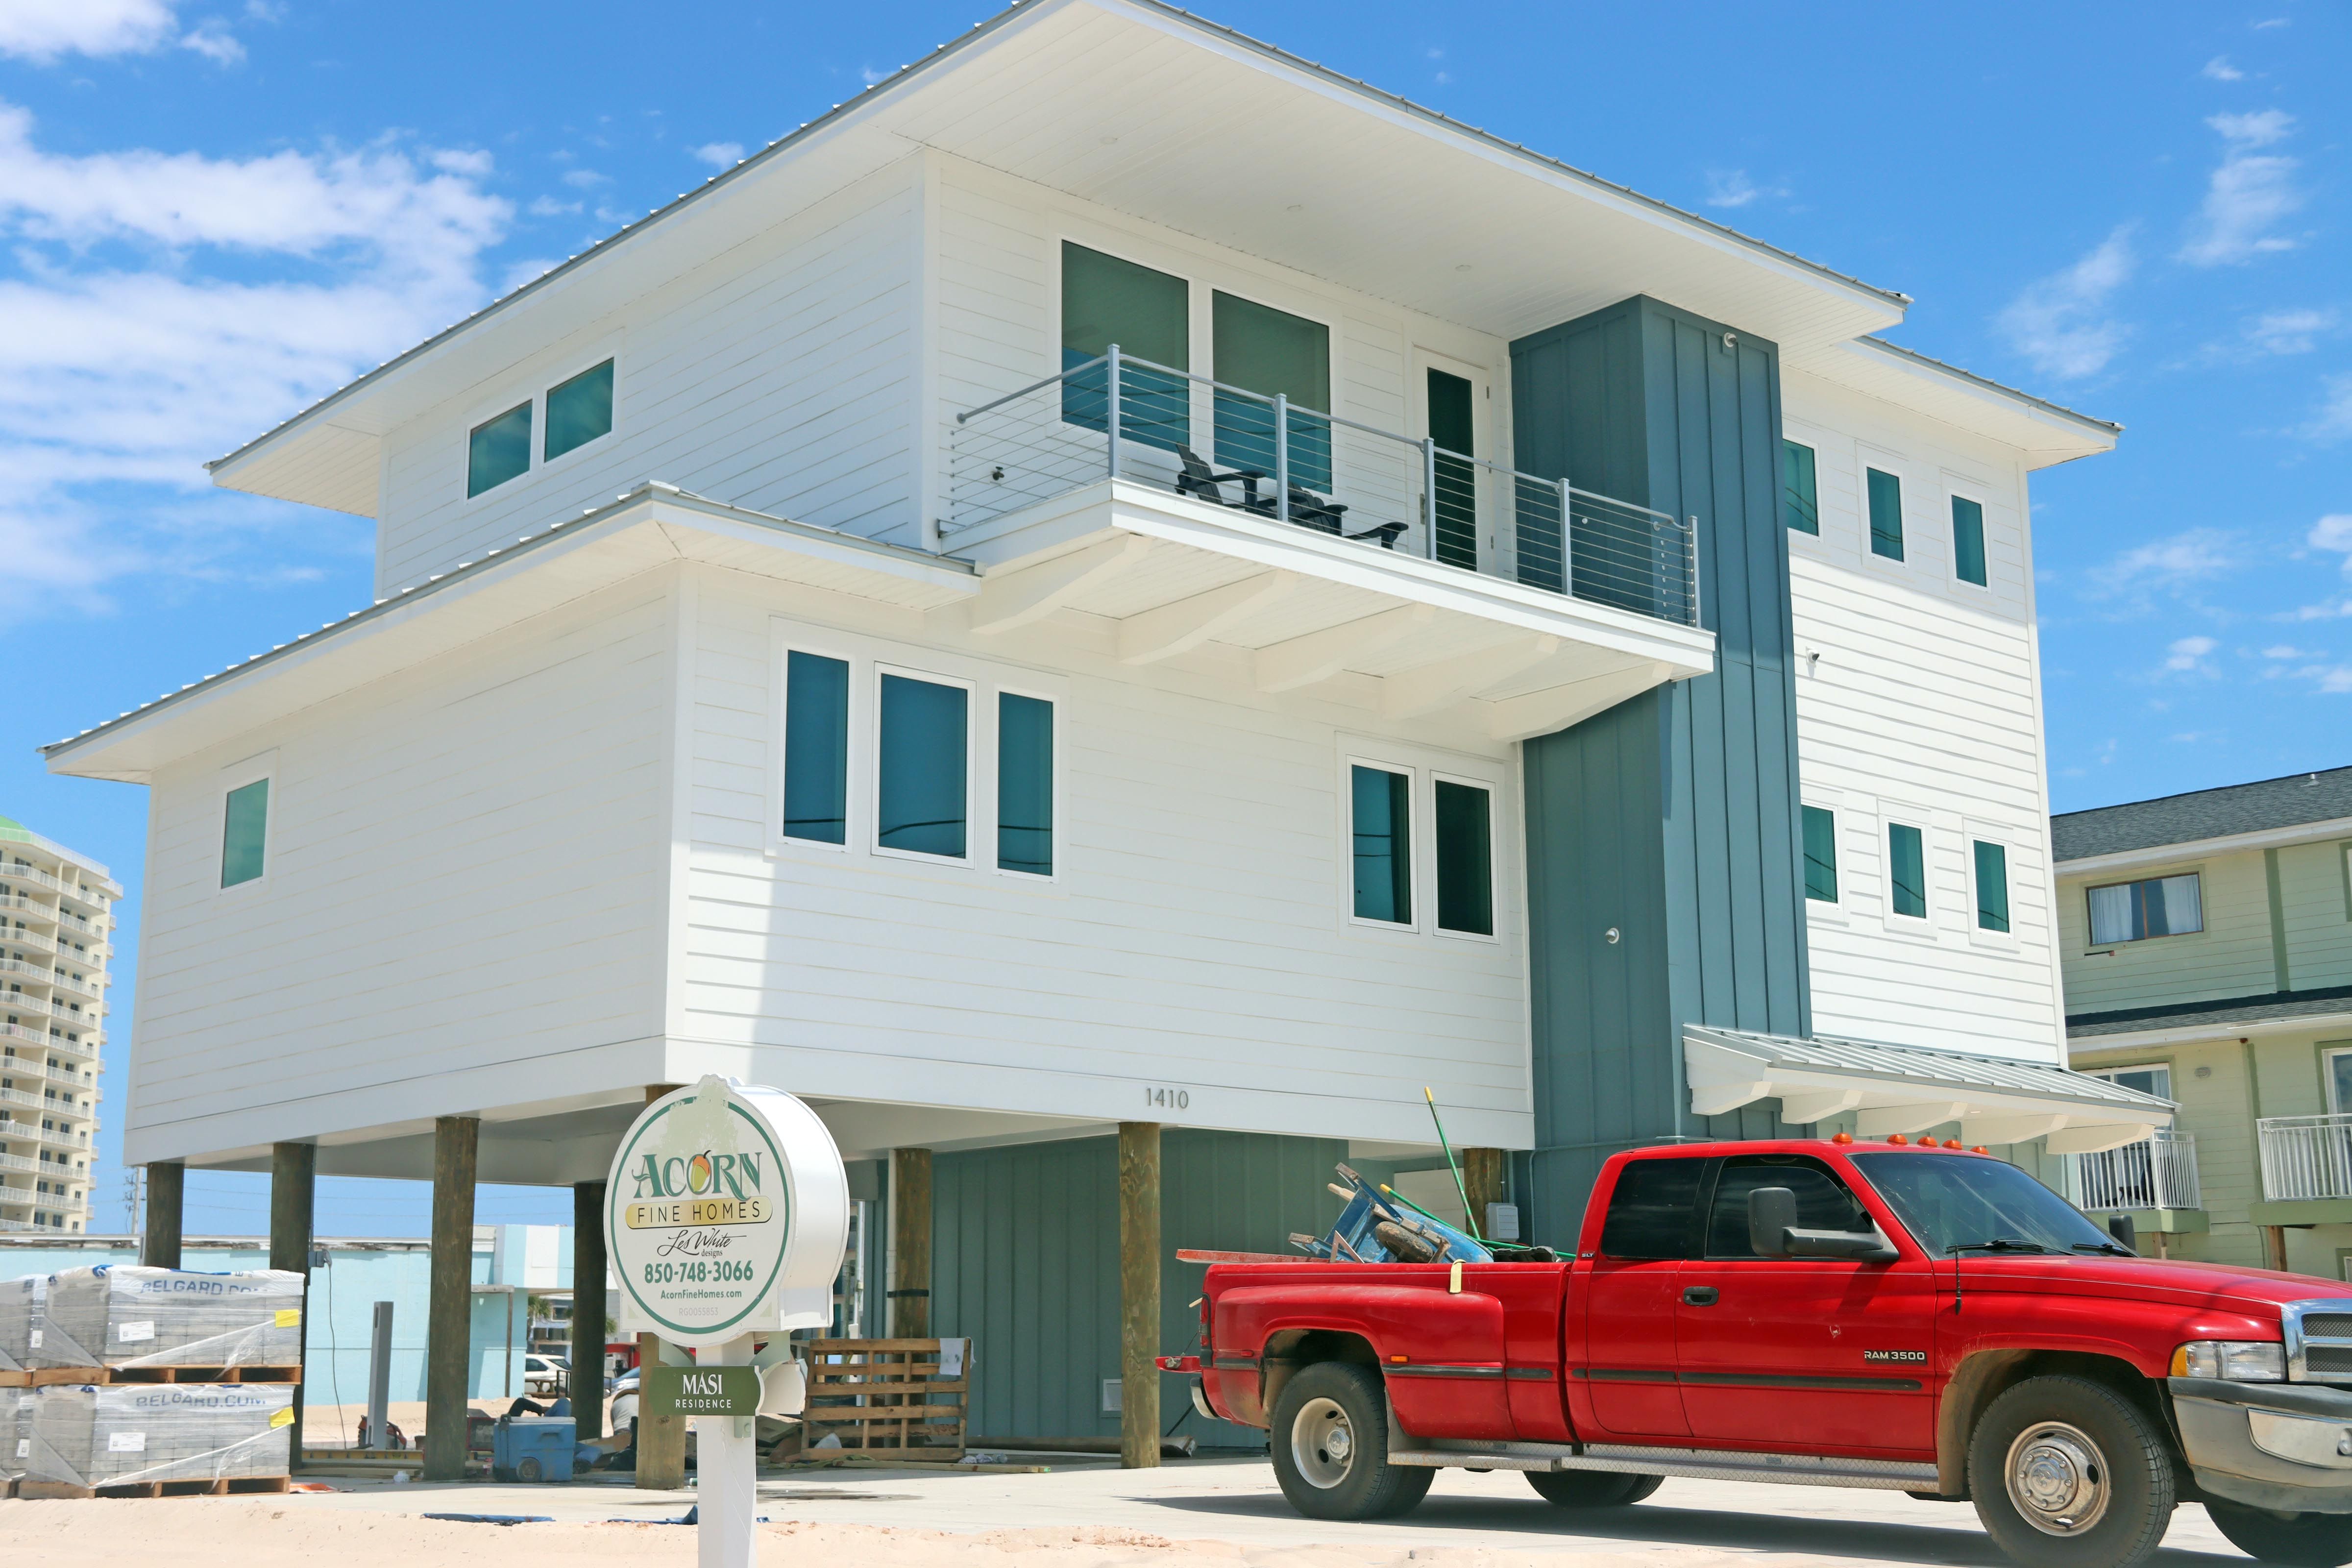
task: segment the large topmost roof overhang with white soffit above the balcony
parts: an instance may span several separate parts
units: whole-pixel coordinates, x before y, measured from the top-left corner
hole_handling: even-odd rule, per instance
[[[381,437],[924,148],[1501,336],[1632,294],[1783,350],[1870,287],[1157,0],[1028,0],[212,465],[374,515]]]

